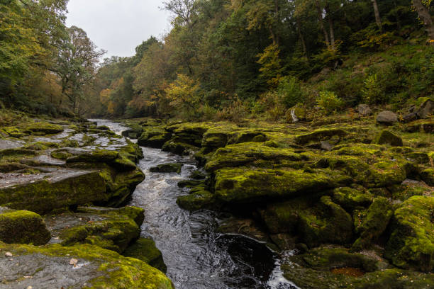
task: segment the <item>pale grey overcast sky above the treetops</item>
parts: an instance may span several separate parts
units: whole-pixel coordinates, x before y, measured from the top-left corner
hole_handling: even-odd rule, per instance
[[[143,40],[169,30],[169,13],[159,6],[162,0],[69,0],[67,26],[85,30],[108,51],[104,57],[132,56]]]

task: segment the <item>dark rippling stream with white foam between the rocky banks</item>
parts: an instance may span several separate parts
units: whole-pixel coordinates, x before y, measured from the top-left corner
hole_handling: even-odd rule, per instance
[[[109,120],[93,120],[120,134],[126,127]],[[238,235],[216,233],[219,215],[188,212],[176,200],[188,193],[177,183],[198,169],[190,157],[142,147],[138,166],[146,175],[130,205],[145,209],[142,237],[152,237],[162,251],[167,276],[177,289],[294,289],[280,270],[281,260],[264,244]],[[158,164],[184,164],[181,174],[152,173]]]

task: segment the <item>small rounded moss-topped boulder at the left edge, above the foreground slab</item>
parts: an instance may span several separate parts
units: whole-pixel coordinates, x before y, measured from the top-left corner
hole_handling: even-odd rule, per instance
[[[51,235],[40,215],[30,211],[9,210],[0,213],[0,241],[43,245]]]

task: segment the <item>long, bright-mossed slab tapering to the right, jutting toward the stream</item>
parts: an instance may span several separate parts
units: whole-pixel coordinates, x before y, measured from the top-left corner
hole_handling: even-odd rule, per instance
[[[220,169],[215,172],[216,197],[224,202],[253,202],[265,198],[293,198],[345,186],[351,179],[328,169]]]

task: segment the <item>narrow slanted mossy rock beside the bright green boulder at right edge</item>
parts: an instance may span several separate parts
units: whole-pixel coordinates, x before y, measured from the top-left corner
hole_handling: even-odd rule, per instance
[[[360,237],[352,244],[352,249],[365,249],[371,246],[372,242],[377,241],[389,225],[393,213],[389,200],[384,197],[374,198],[372,205],[367,210],[366,217],[360,220],[360,225],[356,227]]]

